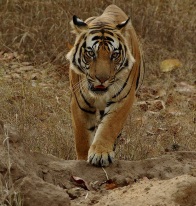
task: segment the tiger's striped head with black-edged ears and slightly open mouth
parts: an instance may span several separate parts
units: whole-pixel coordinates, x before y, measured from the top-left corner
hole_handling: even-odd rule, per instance
[[[85,76],[90,93],[104,94],[122,81],[135,62],[126,41],[129,18],[120,24],[90,21],[73,16],[74,47],[67,54],[70,68]]]

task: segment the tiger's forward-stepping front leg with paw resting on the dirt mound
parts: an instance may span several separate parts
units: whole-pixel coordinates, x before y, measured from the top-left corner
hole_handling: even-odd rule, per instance
[[[134,101],[134,91],[127,99],[106,108],[88,152],[88,162],[97,166],[108,166],[114,160],[113,146],[122,130]]]

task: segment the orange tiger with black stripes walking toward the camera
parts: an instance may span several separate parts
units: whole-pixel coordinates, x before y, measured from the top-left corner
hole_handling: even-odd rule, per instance
[[[130,18],[116,5],[70,22],[71,119],[78,160],[107,167],[144,76],[143,52]]]

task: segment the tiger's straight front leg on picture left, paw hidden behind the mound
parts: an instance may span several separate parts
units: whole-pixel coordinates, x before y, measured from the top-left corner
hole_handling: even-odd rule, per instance
[[[72,126],[78,160],[87,160],[96,124],[95,110],[79,105],[76,97],[71,101]]]

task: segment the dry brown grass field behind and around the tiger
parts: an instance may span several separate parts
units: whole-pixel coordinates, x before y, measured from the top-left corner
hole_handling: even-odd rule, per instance
[[[143,42],[146,76],[138,102],[158,99],[166,105],[165,109],[150,103],[145,108],[135,105],[117,156],[143,159],[170,147],[175,150],[173,145],[195,150],[195,97],[191,92],[179,92],[182,82],[195,85],[194,2],[0,1],[0,119],[15,125],[31,150],[65,159],[75,157],[65,60],[66,43],[73,43],[69,21],[73,14],[83,19],[99,15],[115,3],[131,16]],[[9,54],[14,56],[9,58]],[[162,74],[159,63],[166,58],[179,58],[183,68]],[[13,63],[20,69],[26,61],[33,65],[33,74],[39,73],[38,78],[32,73],[28,77],[26,71],[16,75]],[[165,95],[158,97],[160,89]]]

